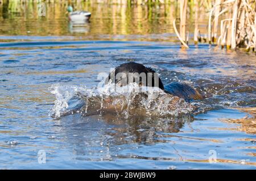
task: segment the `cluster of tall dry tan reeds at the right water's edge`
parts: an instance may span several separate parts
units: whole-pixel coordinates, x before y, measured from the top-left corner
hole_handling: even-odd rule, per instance
[[[175,31],[181,43],[185,46],[185,20],[188,1],[180,1],[180,35]],[[199,37],[199,9],[200,3],[195,3],[195,30],[194,42],[198,43]],[[252,0],[216,0],[204,1],[203,6],[209,14],[208,42],[221,45],[222,48],[256,51],[256,2]],[[221,26],[218,24],[221,22]],[[175,22],[174,22],[175,27]],[[219,37],[218,36],[218,32]],[[206,37],[203,37],[206,41]],[[185,46],[188,47],[188,46]]]

